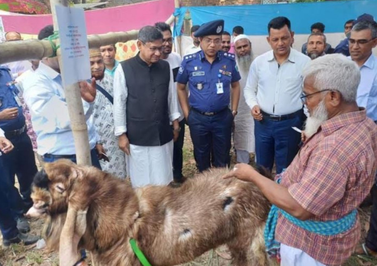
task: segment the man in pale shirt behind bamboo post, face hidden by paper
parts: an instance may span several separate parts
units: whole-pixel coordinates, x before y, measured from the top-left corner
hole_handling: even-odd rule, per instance
[[[41,30],[38,38],[43,39],[53,33],[52,27],[46,26]],[[60,158],[76,162],[75,141],[58,58],[43,58],[33,75],[25,78],[23,87],[23,97],[31,111],[31,121],[37,134],[38,154],[45,162]],[[86,81],[80,82],[80,90],[88,127],[92,165],[101,169],[97,156],[104,150],[102,145],[97,144],[98,135],[92,117],[93,101],[96,95],[95,78],[92,79],[92,84]]]

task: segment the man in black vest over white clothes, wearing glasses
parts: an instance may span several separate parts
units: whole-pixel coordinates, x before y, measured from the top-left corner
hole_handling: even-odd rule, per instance
[[[140,29],[139,53],[115,70],[115,135],[127,154],[133,187],[173,180],[173,136],[176,140],[181,129],[173,74],[169,63],[160,60],[162,39],[153,26]]]

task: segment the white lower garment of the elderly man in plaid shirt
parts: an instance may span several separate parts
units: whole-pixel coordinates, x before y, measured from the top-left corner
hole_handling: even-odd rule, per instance
[[[301,249],[280,244],[280,266],[326,266],[310,257]]]

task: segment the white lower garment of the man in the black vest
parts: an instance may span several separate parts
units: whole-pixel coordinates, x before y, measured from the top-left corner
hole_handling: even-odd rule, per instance
[[[126,164],[133,188],[168,185],[173,180],[173,140],[162,146],[130,144]]]

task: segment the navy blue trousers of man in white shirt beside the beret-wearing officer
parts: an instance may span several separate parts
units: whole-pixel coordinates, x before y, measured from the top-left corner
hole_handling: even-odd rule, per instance
[[[262,121],[254,120],[254,122],[257,164],[271,171],[275,161],[276,173],[281,173],[299,151],[301,134],[292,127],[302,128],[303,114],[282,121],[273,121],[264,117]]]

